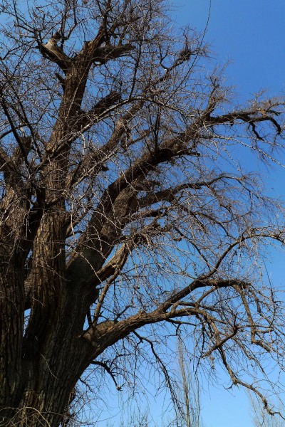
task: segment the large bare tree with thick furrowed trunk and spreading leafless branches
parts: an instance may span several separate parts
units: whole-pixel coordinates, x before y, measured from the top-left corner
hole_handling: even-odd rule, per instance
[[[284,101],[230,102],[164,0],[0,11],[1,425],[71,425],[90,369],[120,389],[156,364],[171,391],[182,333],[268,407],[284,312],[257,259],[281,207],[237,150],[272,158]]]

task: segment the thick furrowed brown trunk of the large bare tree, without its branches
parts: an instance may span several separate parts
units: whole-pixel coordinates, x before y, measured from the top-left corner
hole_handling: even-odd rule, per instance
[[[43,216],[35,239],[31,311],[24,332],[24,263],[0,253],[0,426],[66,425],[68,403],[94,349],[81,338],[95,287],[65,275],[60,210]]]

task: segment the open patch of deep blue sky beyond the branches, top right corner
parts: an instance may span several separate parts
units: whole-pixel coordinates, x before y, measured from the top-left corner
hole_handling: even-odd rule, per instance
[[[178,24],[202,31],[209,0],[174,0]],[[212,0],[206,40],[219,63],[232,59],[229,83],[249,97],[261,88],[280,93],[285,85],[284,0]],[[283,65],[283,66],[282,66]]]

